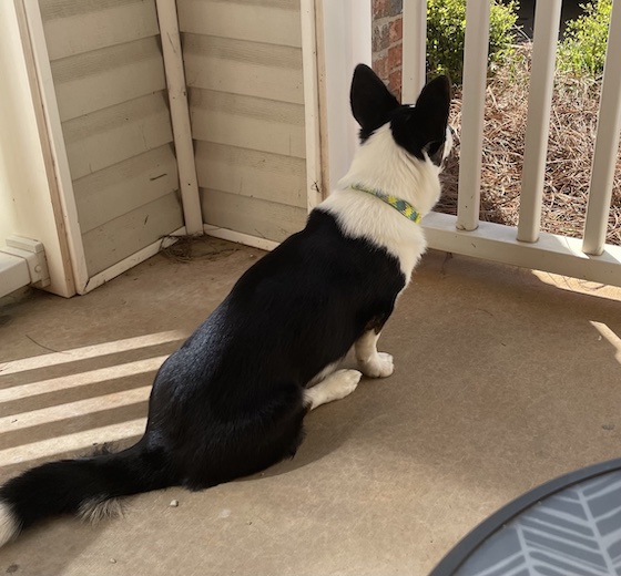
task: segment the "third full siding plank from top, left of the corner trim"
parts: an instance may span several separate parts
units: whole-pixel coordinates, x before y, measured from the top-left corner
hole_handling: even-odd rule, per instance
[[[123,102],[62,126],[73,179],[173,141],[165,92]]]

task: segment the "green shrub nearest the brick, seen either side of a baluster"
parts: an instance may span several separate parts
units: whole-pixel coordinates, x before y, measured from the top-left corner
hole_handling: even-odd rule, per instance
[[[500,64],[513,53],[517,0],[493,1],[489,13],[489,63]],[[448,74],[461,84],[466,0],[429,0],[427,3],[427,70]]]

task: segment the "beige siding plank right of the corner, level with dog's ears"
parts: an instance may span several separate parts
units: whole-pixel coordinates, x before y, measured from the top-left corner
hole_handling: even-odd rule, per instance
[[[304,106],[191,89],[190,111],[195,140],[304,158]]]

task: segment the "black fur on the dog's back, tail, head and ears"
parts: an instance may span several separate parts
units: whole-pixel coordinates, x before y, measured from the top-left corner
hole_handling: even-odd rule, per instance
[[[446,131],[447,88],[435,94],[428,97],[441,99],[440,115],[423,122],[429,130],[417,128],[415,109],[399,106],[359,66],[352,105],[363,138],[393,119],[397,138],[423,156]],[[407,136],[408,126],[416,137]],[[174,485],[201,490],[293,456],[309,409],[305,387],[363,333],[379,331],[405,284],[397,257],[373,238],[346,236],[319,206],[163,363],[144,436],[116,454],[43,464],[10,480],[0,488],[4,522],[17,533],[51,515],[88,514],[118,496]]]

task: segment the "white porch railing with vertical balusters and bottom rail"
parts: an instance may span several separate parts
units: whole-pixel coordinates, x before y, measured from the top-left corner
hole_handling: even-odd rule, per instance
[[[604,244],[621,132],[621,0],[612,7],[583,238],[540,229],[561,1],[537,2],[518,227],[479,222],[489,0],[468,0],[466,8],[457,216],[432,213],[424,225],[436,249],[621,286],[621,247]],[[426,6],[404,0],[405,101],[424,82]]]

